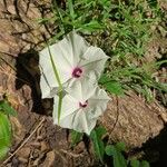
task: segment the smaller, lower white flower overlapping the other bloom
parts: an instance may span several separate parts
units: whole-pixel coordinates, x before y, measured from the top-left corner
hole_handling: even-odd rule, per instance
[[[55,97],[53,122],[80,132],[90,134],[98,117],[106,110],[109,97],[88,79],[76,80],[62,99],[58,124],[58,96]]]

